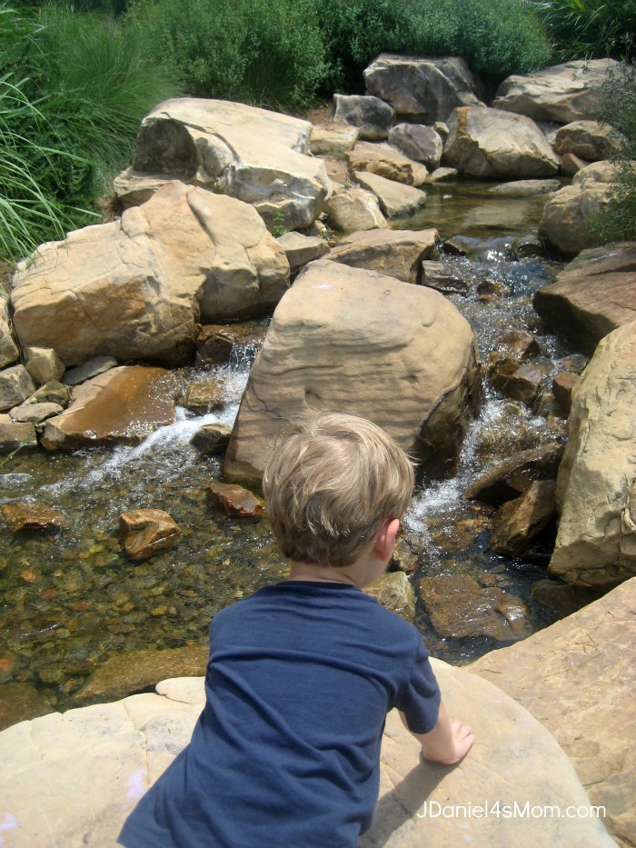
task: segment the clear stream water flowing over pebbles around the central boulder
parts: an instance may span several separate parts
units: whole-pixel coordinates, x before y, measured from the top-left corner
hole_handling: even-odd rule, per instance
[[[440,189],[418,219],[406,224],[436,225],[445,236],[484,237],[502,234],[501,226],[492,224],[496,217],[506,222],[506,234],[536,230],[544,198],[505,203],[495,198],[490,206],[492,198],[484,192],[482,188],[485,210],[476,200],[478,188]],[[455,196],[460,199],[452,206]],[[502,208],[508,211],[504,214]],[[483,221],[490,223],[474,224]],[[452,300],[472,324],[484,361],[503,332],[530,327],[542,348],[547,384],[567,364],[569,352],[543,330],[532,310],[532,294],[551,282],[556,266],[504,256],[505,250],[495,244],[477,260],[453,259],[473,284],[467,294],[452,295]],[[498,292],[490,301],[478,295],[484,280]],[[0,504],[52,506],[63,511],[67,525],[58,534],[3,534],[0,683],[30,683],[57,708],[81,703],[77,693],[86,678],[110,657],[136,649],[204,644],[219,609],[284,574],[266,522],[243,524],[208,504],[206,485],[219,478],[220,464],[189,444],[202,424],[233,422],[251,358],[235,357],[215,369],[224,379],[226,394],[219,414],[194,416],[179,409],[175,424],[136,447],[75,454],[22,451],[5,460],[0,467]],[[209,373],[184,368],[178,379],[185,385]],[[547,424],[544,417],[487,389],[480,419],[463,444],[459,474],[419,492],[406,517],[407,530],[420,540],[422,550],[413,578],[416,589],[422,576],[471,574],[482,584],[522,598],[529,604],[534,627],[550,622],[547,611],[530,596],[532,581],[545,575],[548,551],[535,547],[518,560],[492,554],[492,508],[463,501],[461,494],[492,458],[493,445],[505,452],[555,437],[563,437],[562,422]],[[166,510],[181,526],[182,536],[174,550],[135,564],[122,551],[118,519],[122,512],[141,507]],[[421,599],[416,624],[434,653],[452,662],[465,662],[496,646],[484,637],[438,637]],[[0,703],[2,691],[0,685]]]

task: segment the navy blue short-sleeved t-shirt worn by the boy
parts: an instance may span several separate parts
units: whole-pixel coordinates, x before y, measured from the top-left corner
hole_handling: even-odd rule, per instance
[[[214,618],[191,743],[130,814],[126,848],[353,848],[386,713],[415,733],[440,692],[422,636],[354,586],[289,581]]]

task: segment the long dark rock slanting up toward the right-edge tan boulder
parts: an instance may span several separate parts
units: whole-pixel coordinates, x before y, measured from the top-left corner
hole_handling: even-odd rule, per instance
[[[537,480],[553,480],[562,454],[562,444],[546,444],[514,454],[480,474],[462,497],[486,504],[510,501],[526,492]]]

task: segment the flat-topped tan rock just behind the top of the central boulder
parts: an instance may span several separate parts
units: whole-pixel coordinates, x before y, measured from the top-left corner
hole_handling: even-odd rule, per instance
[[[439,240],[437,230],[369,230],[343,238],[328,258],[416,283],[420,263],[437,256]]]

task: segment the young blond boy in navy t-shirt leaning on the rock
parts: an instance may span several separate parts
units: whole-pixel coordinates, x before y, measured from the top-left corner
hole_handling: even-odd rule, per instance
[[[355,848],[378,797],[386,713],[424,757],[457,763],[422,636],[361,590],[391,558],[412,465],[374,424],[319,414],[265,469],[289,577],[214,618],[191,743],[144,795],[126,848]]]

